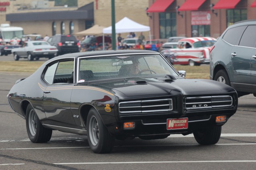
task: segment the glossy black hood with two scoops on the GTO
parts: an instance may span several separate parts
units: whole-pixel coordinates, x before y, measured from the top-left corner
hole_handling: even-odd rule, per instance
[[[129,78],[113,80],[108,83],[92,83],[114,92],[119,97],[168,96],[177,95],[217,95],[233,92],[234,89],[224,83],[206,79],[168,79],[168,78]]]

